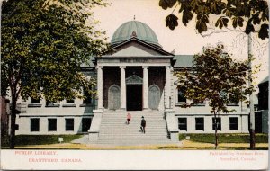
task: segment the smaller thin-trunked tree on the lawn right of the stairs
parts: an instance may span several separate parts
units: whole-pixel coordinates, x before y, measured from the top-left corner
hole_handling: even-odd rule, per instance
[[[192,103],[182,107],[209,101],[214,115],[215,148],[218,146],[217,116],[220,112],[233,112],[228,104],[248,103],[247,94],[253,91],[253,87],[247,85],[248,70],[248,61],[233,60],[224,46],[218,45],[203,48],[201,54],[194,55],[192,70],[175,72],[178,88],[184,89],[185,97],[192,99]]]

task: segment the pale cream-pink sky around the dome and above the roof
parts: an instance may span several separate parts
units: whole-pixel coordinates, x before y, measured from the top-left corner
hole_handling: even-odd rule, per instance
[[[166,27],[165,19],[173,9],[163,10],[158,4],[159,0],[107,0],[107,2],[110,3],[107,7],[94,8],[94,18],[100,21],[99,28],[106,31],[109,40],[122,23],[134,20],[135,16],[136,21],[146,23],[157,34],[159,44],[168,52],[175,50],[176,55],[193,55],[200,53],[203,46],[223,43],[233,58],[247,59],[245,33],[222,32],[202,37],[195,30],[194,20],[186,27],[181,22],[180,15],[178,15],[178,27],[171,31]],[[177,14],[177,10],[179,9],[176,8],[174,14]],[[253,35],[252,39],[252,49],[256,57],[253,65],[262,65],[255,80],[257,84],[269,74],[269,44],[268,40],[259,40],[257,35]]]

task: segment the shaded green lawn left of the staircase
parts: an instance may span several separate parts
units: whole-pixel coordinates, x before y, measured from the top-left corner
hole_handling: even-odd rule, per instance
[[[57,144],[59,137],[64,139],[63,143],[68,143],[82,135],[16,135],[15,146]],[[8,137],[2,137],[1,147],[9,146],[8,142]]]

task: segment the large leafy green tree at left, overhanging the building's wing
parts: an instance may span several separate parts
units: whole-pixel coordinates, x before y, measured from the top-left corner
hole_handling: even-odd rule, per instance
[[[2,4],[1,96],[11,96],[10,148],[20,97],[48,102],[94,94],[80,66],[106,49],[91,9],[102,0],[7,0]]]

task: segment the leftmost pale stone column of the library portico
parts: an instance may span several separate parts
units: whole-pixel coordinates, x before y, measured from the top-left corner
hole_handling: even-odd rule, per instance
[[[103,67],[97,67],[97,94],[98,94],[98,102],[97,108],[103,109]]]

